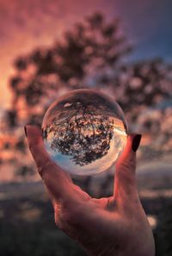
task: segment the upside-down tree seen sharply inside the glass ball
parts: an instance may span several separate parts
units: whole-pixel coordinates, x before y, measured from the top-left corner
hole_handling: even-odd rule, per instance
[[[70,156],[76,165],[88,165],[105,156],[114,135],[114,119],[98,116],[94,105],[74,103],[63,120],[54,118],[43,136],[52,151]],[[49,137],[49,138],[48,138]]]

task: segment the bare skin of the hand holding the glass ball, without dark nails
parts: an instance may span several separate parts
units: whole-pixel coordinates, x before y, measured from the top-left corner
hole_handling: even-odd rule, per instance
[[[50,159],[40,128],[27,126],[28,146],[52,200],[58,228],[90,256],[155,256],[154,239],[136,186],[135,134],[116,165],[114,195],[95,199]]]

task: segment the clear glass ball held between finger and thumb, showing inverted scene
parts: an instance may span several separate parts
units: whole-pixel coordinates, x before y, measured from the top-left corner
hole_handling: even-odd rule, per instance
[[[127,124],[111,98],[76,90],[46,110],[42,135],[47,152],[65,172],[92,175],[108,170],[118,159],[126,145]]]

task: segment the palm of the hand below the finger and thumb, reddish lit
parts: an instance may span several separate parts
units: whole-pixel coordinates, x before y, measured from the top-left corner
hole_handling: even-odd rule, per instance
[[[137,198],[120,205],[114,197],[95,199],[75,190],[76,201],[54,203],[55,222],[90,255],[153,255],[151,229]]]

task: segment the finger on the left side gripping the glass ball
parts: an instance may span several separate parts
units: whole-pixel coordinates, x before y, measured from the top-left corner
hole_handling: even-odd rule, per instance
[[[38,166],[41,178],[55,199],[72,197],[74,184],[68,173],[60,169],[46,152],[40,128],[28,125],[27,138],[30,152]]]

